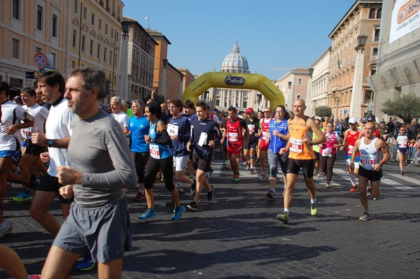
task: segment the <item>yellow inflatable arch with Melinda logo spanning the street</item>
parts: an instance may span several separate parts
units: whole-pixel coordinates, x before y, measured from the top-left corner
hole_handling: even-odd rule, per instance
[[[185,102],[188,99],[195,101],[198,96],[211,87],[258,90],[269,100],[269,106],[272,110],[276,106],[284,106],[283,92],[267,77],[258,73],[204,73],[184,90],[182,101]]]

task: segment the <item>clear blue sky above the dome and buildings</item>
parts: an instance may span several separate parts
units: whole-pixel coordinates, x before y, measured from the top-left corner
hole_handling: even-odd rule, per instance
[[[123,0],[123,15],[165,34],[168,60],[191,73],[219,71],[238,40],[251,73],[271,80],[309,68],[355,0]],[[273,70],[275,69],[275,70]],[[281,70],[283,69],[283,70]]]

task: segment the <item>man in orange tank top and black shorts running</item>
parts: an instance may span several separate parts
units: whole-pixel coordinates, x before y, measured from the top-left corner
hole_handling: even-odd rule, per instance
[[[316,203],[316,187],[314,184],[315,156],[312,145],[318,145],[325,142],[325,136],[315,121],[307,115],[304,115],[306,105],[302,99],[293,102],[293,113],[295,117],[288,120],[290,138],[286,148],[280,150],[283,154],[290,149],[288,169],[286,174],[287,185],[284,191],[284,210],[277,215],[277,220],[288,224],[289,208],[293,197],[293,188],[297,180],[300,169],[303,170],[304,183],[311,195],[311,215],[318,213]],[[312,141],[312,133],[318,138]]]

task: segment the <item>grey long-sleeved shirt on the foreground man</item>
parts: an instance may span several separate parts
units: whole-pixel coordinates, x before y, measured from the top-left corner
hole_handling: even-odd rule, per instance
[[[124,188],[136,185],[136,171],[130,148],[120,125],[109,114],[71,121],[69,160],[83,173],[83,184],[74,185],[79,206],[98,208],[123,199]]]

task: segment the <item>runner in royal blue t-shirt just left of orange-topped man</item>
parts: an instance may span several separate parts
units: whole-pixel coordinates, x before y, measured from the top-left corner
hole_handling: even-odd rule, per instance
[[[289,152],[280,154],[280,150],[281,148],[286,148],[289,138],[287,121],[290,115],[286,111],[286,108],[280,105],[276,107],[276,114],[274,116],[275,118],[269,122],[269,134],[265,139],[265,144],[269,145],[267,150],[269,162],[269,191],[267,192],[267,197],[270,199],[274,199],[275,196],[279,163],[283,172],[284,188],[286,188],[286,172],[289,155]]]

